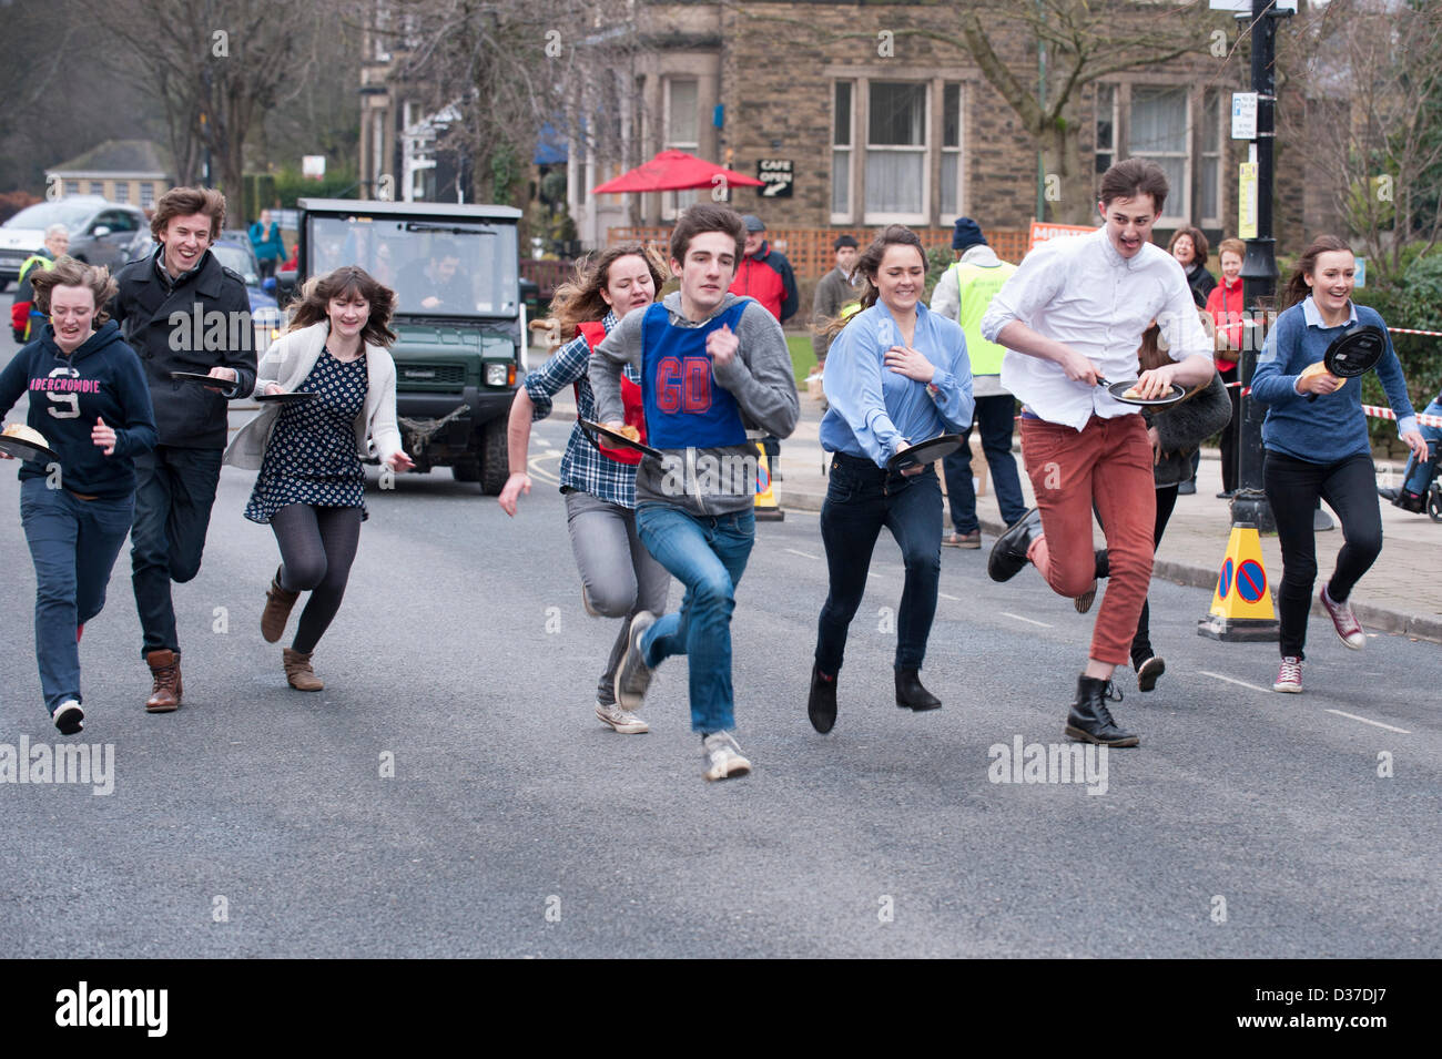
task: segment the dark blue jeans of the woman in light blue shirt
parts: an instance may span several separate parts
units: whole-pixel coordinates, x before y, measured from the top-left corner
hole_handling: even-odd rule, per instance
[[[870,460],[838,452],[820,509],[831,588],[816,621],[816,666],[828,676],[841,671],[846,630],[867,591],[871,552],[883,526],[891,530],[906,563],[894,666],[921,669],[926,660],[942,582],[942,487],[936,471],[927,467],[911,477],[888,475]]]

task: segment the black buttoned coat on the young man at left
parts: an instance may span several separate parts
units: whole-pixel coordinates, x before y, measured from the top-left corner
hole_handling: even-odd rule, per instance
[[[157,251],[163,252],[164,248]],[[239,377],[228,390],[229,396],[251,395],[255,389],[255,326],[245,281],[209,251],[174,287],[156,272],[154,255],[131,261],[115,281],[120,291],[105,308],[120,321],[125,341],[140,356],[160,444],[225,448],[229,435],[226,398],[199,383],[176,382],[170,373],[205,375],[212,367],[231,367]]]

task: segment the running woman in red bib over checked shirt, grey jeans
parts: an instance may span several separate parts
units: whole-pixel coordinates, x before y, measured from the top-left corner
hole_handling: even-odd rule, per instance
[[[577,271],[551,301],[551,311],[567,340],[555,356],[526,376],[510,406],[510,477],[500,490],[500,506],[515,516],[516,501],[531,491],[526,454],[531,424],[551,415],[551,396],[575,388],[581,419],[596,419],[596,396],[587,379],[591,349],[636,308],[656,300],[663,277],[640,243],[623,243],[600,254]],[[632,393],[627,422],[640,424],[640,376],[626,370]],[[634,415],[632,411],[634,409]],[[561,493],[571,535],[575,568],[581,573],[581,602],[593,617],[622,618],[606,670],[596,684],[596,716],[622,735],[640,735],[650,726],[616,702],[616,667],[626,656],[626,630],[640,611],[666,609],[671,575],[636,536],[636,464],[639,454],[606,452],[577,424],[561,457]]]

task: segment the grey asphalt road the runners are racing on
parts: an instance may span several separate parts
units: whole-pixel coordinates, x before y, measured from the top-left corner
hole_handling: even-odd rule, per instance
[[[539,473],[567,429],[538,426]],[[1280,696],[1275,645],[1197,637],[1207,594],[1159,584],[1168,671],[1146,696],[1123,679],[1115,712],[1142,745],[1107,755],[1105,792],[992,782],[994,746],[1064,742],[1090,617],[1031,571],[995,585],[985,552],[945,549],[923,670],[945,709],[898,710],[883,536],[820,736],[805,699],[825,563],[816,516],[792,513],[758,526],[733,622],[756,771],[707,784],[685,660],[659,671],[650,735],[591,715],[614,624],[581,608],[554,486],[515,520],[447,471],[372,490],[316,651],[326,690],[303,694],[257,628],[277,553],[241,517],[249,484],[226,468],[203,569],[176,588],[185,707],[144,713],[127,549],[82,648],[79,739],[112,745],[112,792],[0,782],[7,955],[1438,952],[1433,644],[1357,654],[1314,618],[1308,690]],[[55,745],[17,494],[6,470],[0,743]]]

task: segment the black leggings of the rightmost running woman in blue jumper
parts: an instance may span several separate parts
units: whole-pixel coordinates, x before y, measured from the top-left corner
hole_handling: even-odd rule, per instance
[[[1337,569],[1327,582],[1327,595],[1334,602],[1344,602],[1381,555],[1377,470],[1370,455],[1314,464],[1268,451],[1262,478],[1282,543],[1282,588],[1278,592],[1282,657],[1304,658],[1306,615],[1317,582],[1317,533],[1312,530],[1317,500],[1325,500],[1343,522],[1345,543],[1337,553]]]

